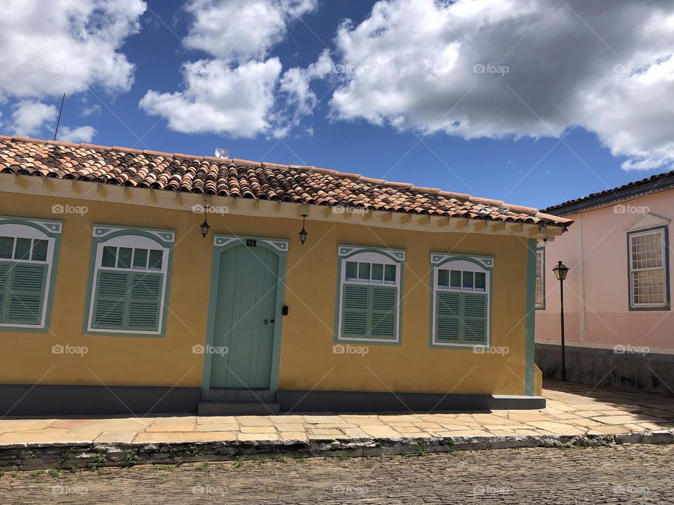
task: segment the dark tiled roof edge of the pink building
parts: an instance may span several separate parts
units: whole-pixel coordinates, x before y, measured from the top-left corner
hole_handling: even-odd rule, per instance
[[[543,209],[542,212],[555,215],[572,214],[588,208],[604,206],[609,203],[622,200],[623,198],[634,198],[642,194],[663,191],[674,187],[674,170],[657,175],[652,175],[642,180],[628,182],[619,187],[604,189],[597,193],[574,198],[573,200],[558,203]]]

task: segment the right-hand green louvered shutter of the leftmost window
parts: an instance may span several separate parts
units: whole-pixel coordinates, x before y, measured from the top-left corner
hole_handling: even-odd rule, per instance
[[[4,295],[6,322],[39,325],[42,321],[42,302],[47,278],[47,265],[15,263],[11,273],[9,292]],[[4,281],[7,283],[8,276]],[[7,291],[7,290],[6,290]]]

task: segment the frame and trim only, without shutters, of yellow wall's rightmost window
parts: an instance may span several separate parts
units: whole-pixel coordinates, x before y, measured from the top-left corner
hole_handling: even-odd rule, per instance
[[[431,276],[432,276],[432,311],[431,311],[431,342],[433,346],[438,347],[465,347],[466,349],[474,349],[475,347],[490,347],[491,346],[491,268],[480,267],[480,265],[467,260],[454,259],[458,257],[470,257],[472,260],[476,260],[481,264],[489,265],[490,267],[494,266],[494,258],[488,256],[474,256],[474,255],[438,255],[437,253],[432,253],[431,257]],[[484,280],[484,291],[464,291],[461,290],[451,290],[445,288],[439,288],[437,285],[437,271],[438,270],[461,270],[461,271],[473,271],[481,272],[485,274]],[[455,342],[437,342],[436,339],[436,327],[435,324],[437,321],[437,292],[467,292],[467,293],[484,293],[487,295],[487,342],[480,345],[475,344],[461,344]]]

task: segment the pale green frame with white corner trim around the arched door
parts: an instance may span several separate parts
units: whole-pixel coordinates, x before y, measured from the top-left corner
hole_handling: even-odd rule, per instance
[[[213,345],[213,337],[216,330],[216,306],[218,304],[218,288],[220,286],[220,258],[225,251],[237,247],[238,245],[246,247],[246,241],[249,240],[256,241],[256,247],[270,250],[279,258],[279,283],[277,284],[276,290],[272,369],[269,384],[269,389],[271,391],[277,391],[279,389],[279,354],[281,351],[281,326],[283,321],[282,310],[284,290],[286,287],[286,255],[289,246],[289,241],[286,238],[265,238],[223,234],[215,234],[213,236],[213,262],[211,264],[211,291],[209,293],[209,321],[206,327],[206,346]],[[212,364],[213,355],[204,352],[204,374],[201,379],[201,391],[209,391],[209,389],[211,389]]]

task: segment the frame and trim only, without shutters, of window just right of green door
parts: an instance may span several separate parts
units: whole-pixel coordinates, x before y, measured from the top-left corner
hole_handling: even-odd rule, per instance
[[[380,249],[380,250],[371,250],[375,248],[362,247],[356,248],[353,246],[340,245],[338,250],[341,254],[343,253],[353,253],[355,250],[364,250],[362,253],[352,254],[350,256],[340,255],[340,269],[338,278],[338,287],[339,287],[339,297],[337,305],[337,340],[338,342],[385,342],[388,344],[398,344],[400,342],[400,330],[402,327],[402,266],[404,264],[405,252],[402,250],[390,250],[390,249]],[[392,260],[390,254],[394,254],[399,257],[402,262]],[[381,263],[381,264],[390,264],[395,266],[395,283],[366,283],[363,281],[347,281],[346,280],[346,262],[364,262],[364,263]],[[395,319],[395,339],[373,339],[373,338],[352,338],[352,337],[342,337],[342,325],[343,325],[343,297],[344,297],[344,285],[376,285],[376,286],[388,286],[389,288],[396,288],[396,319]]]

